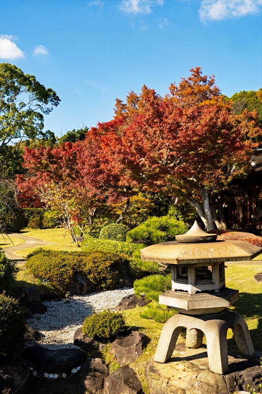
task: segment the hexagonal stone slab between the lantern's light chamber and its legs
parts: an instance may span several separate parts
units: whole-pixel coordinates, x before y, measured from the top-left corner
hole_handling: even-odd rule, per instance
[[[220,292],[189,294],[169,290],[160,294],[159,303],[186,315],[209,315],[229,308],[239,298],[238,290],[224,287]]]

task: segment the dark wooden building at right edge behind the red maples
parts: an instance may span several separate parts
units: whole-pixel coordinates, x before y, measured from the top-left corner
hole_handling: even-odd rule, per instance
[[[261,233],[262,153],[253,156],[250,162],[251,174],[245,179],[234,182],[234,190],[230,193],[229,222],[231,228],[249,229]]]

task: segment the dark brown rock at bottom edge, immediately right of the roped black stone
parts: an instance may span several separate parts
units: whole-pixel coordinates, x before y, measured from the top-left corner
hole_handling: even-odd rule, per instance
[[[78,394],[103,394],[108,375],[108,368],[101,359],[85,361],[77,376]]]

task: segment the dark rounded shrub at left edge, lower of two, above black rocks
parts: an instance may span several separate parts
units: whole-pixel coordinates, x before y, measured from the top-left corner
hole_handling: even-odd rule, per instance
[[[22,343],[25,332],[25,319],[18,301],[0,294],[0,355],[11,355]]]

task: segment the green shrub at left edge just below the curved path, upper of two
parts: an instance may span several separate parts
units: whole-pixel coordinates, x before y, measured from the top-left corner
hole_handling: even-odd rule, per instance
[[[11,293],[18,271],[16,263],[7,259],[5,254],[0,252],[0,293],[4,291],[7,295]]]

